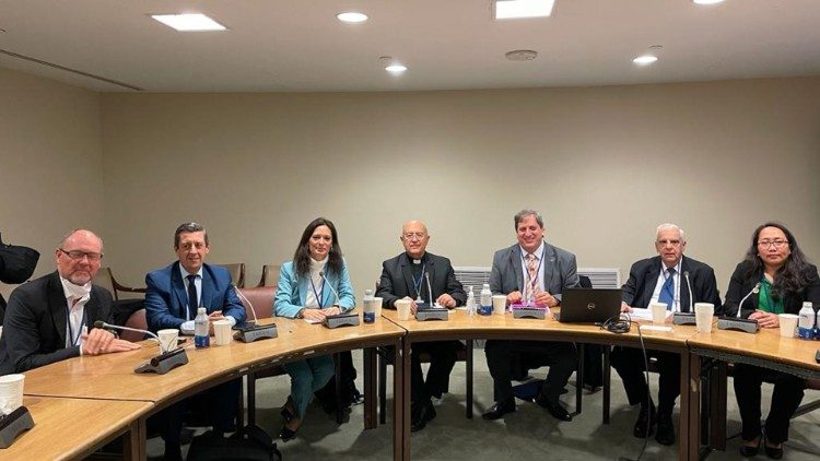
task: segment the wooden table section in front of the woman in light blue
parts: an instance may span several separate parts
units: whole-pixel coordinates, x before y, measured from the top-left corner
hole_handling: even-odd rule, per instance
[[[30,398],[49,399],[86,399],[89,402],[102,404],[118,404],[120,402],[136,402],[149,405],[134,414],[134,422],[130,426],[131,434],[127,437],[126,451],[136,459],[144,458],[145,419],[162,409],[183,399],[201,392],[219,383],[241,378],[244,375],[260,371],[274,365],[308,358],[312,356],[332,354],[352,348],[364,348],[364,394],[365,428],[376,426],[375,404],[375,347],[394,346],[396,363],[401,363],[398,354],[401,351],[401,338],[405,330],[387,322],[362,323],[360,327],[343,327],[328,329],[320,324],[311,324],[305,320],[284,318],[265,319],[261,322],[274,322],[278,338],[261,340],[254,343],[232,341],[225,346],[214,346],[197,350],[192,340],[188,340],[183,347],[188,355],[188,364],[175,368],[165,375],[136,374],[133,368],[155,356],[159,347],[155,342],[144,341],[142,347],[117,354],[98,356],[81,356],[54,363],[25,373],[25,394]],[[394,392],[402,395],[400,388],[403,382],[401,367],[394,368]],[[394,451],[398,458],[400,452],[401,428],[397,425],[401,421],[401,399],[394,402],[395,415]],[[105,413],[98,413],[104,415]],[[47,444],[55,433],[48,427],[39,427],[37,415],[34,429],[27,434],[28,438],[40,438]],[[105,416],[107,418],[107,415]],[[107,442],[107,437],[96,437],[95,447]],[[4,458],[5,452],[0,452]],[[58,452],[44,458],[59,458]]]

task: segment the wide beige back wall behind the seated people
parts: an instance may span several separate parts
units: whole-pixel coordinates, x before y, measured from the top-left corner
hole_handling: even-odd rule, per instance
[[[722,291],[768,218],[820,260],[820,78],[101,97],[106,258],[130,284],[173,260],[184,221],[210,229],[211,262],[244,261],[255,282],[326,215],[361,296],[402,221],[426,220],[430,250],[455,264],[489,265],[522,208],[579,265],[624,277],[666,221]]]

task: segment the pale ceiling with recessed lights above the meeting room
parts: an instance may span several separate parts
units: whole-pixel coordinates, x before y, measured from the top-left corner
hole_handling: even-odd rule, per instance
[[[370,15],[343,24],[338,12]],[[179,33],[149,13],[202,12]],[[820,0],[557,0],[496,22],[489,0],[2,0],[0,49],[150,92],[350,92],[587,86],[820,74]],[[660,60],[632,58],[661,45]],[[538,51],[509,61],[514,49]],[[399,76],[380,56],[401,60]],[[126,87],[0,54],[0,68]]]

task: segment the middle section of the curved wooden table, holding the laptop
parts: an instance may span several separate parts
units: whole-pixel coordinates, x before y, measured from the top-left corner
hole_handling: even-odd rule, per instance
[[[560,309],[555,309],[560,311]],[[382,316],[397,326],[407,330],[407,335],[402,344],[403,357],[410,356],[410,350],[414,342],[422,341],[443,341],[443,340],[520,340],[520,341],[565,341],[578,344],[605,344],[605,345],[623,345],[630,347],[641,346],[641,335],[643,335],[646,348],[668,351],[680,354],[681,356],[681,409],[690,407],[690,400],[698,400],[696,389],[690,388],[690,363],[687,340],[695,334],[693,326],[672,326],[668,323],[669,331],[654,330],[642,328],[641,334],[637,328],[632,328],[630,332],[617,334],[601,329],[590,323],[561,323],[548,316],[543,320],[538,319],[516,319],[511,312],[504,315],[494,314],[490,316],[469,316],[465,310],[450,310],[449,319],[418,321],[414,318],[410,320],[399,320],[396,310],[384,309]],[[410,389],[410,360],[403,362],[405,370],[402,373],[402,389]],[[469,373],[469,370],[468,370]],[[605,375],[605,380],[608,376]],[[608,385],[605,381],[605,386]],[[578,392],[581,387],[578,387]],[[408,391],[409,392],[409,391]],[[401,417],[403,422],[400,427],[403,430],[403,460],[410,459],[410,399],[409,394],[403,397],[403,411]],[[468,402],[468,406],[469,406]],[[605,402],[605,413],[608,413],[608,402]],[[481,424],[481,423],[479,423]],[[692,421],[689,411],[680,412],[680,439],[688,440],[690,432],[698,432],[698,419]],[[680,444],[681,460],[694,459],[690,452],[688,444]]]

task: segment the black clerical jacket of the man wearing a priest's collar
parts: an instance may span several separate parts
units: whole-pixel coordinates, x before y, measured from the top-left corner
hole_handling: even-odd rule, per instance
[[[382,263],[382,280],[379,281],[376,296],[384,299],[383,306],[388,309],[395,309],[396,299],[401,299],[405,296],[415,298],[417,293],[413,287],[413,262],[407,256],[407,252],[402,252],[396,258],[388,259]],[[433,289],[433,302],[444,293],[453,296],[456,300],[456,306],[464,306],[467,302],[467,294],[461,287],[461,283],[456,280],[456,273],[453,271],[453,265],[449,263],[449,259],[436,256],[427,252],[425,255],[425,269],[424,271],[430,273],[430,285]],[[422,282],[423,293],[426,293],[427,282]],[[429,302],[427,298],[424,298]]]

